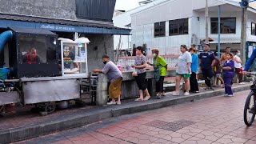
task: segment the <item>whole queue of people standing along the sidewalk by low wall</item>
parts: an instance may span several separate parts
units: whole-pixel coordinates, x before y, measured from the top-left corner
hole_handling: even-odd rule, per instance
[[[222,82],[222,86],[225,88],[225,96],[233,96],[232,91],[232,79],[234,77],[234,71],[238,74],[239,84],[242,82],[242,61],[239,58],[240,51],[236,51],[236,55],[230,53],[230,47],[226,47],[226,53],[222,54],[222,58],[218,58],[217,52],[210,51],[210,45],[204,46],[204,51],[197,54],[195,48],[188,49],[186,45],[180,46],[182,54],[178,57],[176,64],[176,83],[173,95],[180,95],[180,84],[181,80],[184,81],[184,95],[190,95],[190,93],[198,93],[198,66],[202,70],[203,78],[205,79],[206,89],[214,90],[214,86],[218,86],[218,81]],[[153,63],[146,60],[146,57],[142,53],[142,46],[136,48],[136,58],[134,62],[133,76],[138,85],[139,97],[135,101],[147,101],[149,100],[150,94],[147,90],[146,82],[146,67],[153,66],[154,68],[154,79],[156,82],[155,98],[162,98],[166,94],[163,90],[164,78],[167,74],[167,63],[164,58],[159,55],[159,49],[154,48],[151,50],[153,56]],[[118,66],[114,62],[110,61],[110,57],[104,55],[102,62],[105,64],[102,70],[93,70],[94,73],[103,73],[107,75],[110,80],[109,94],[111,101],[108,105],[121,104],[121,86],[122,86],[122,72],[118,69]],[[211,79],[216,77],[216,84],[212,86]],[[145,96],[145,97],[144,97]],[[117,99],[117,101],[116,101]]]

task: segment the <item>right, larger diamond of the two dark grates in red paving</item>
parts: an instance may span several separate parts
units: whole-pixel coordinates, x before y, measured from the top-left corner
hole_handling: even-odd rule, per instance
[[[168,124],[160,126],[159,128],[163,130],[177,131],[186,126],[193,125],[194,123],[195,122],[192,121],[181,120],[176,122],[168,122]]]

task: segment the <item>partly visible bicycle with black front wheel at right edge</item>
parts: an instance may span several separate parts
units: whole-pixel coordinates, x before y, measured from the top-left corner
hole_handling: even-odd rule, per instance
[[[248,77],[255,74],[247,74]],[[246,98],[246,104],[243,111],[243,119],[246,126],[250,126],[254,122],[256,114],[256,80],[250,86],[250,94]]]

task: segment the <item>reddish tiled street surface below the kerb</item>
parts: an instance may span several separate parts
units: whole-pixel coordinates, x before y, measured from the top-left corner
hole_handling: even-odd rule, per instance
[[[243,122],[249,93],[126,114],[14,144],[255,144],[256,122]]]

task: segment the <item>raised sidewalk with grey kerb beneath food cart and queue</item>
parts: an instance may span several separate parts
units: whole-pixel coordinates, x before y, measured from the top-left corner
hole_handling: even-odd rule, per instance
[[[249,83],[246,83],[246,85],[234,84],[233,86],[234,92],[248,90],[249,88]],[[170,93],[167,93],[166,97],[162,99],[152,97],[146,102],[126,101],[122,102],[120,106],[85,106],[76,109],[60,110],[45,117],[24,111],[21,114],[7,115],[0,118],[0,143],[34,138],[43,134],[84,126],[107,118],[194,102],[195,100],[211,98],[221,94],[224,94],[224,89],[222,88],[216,90],[200,89],[200,93],[191,94],[190,96],[172,96]]]

